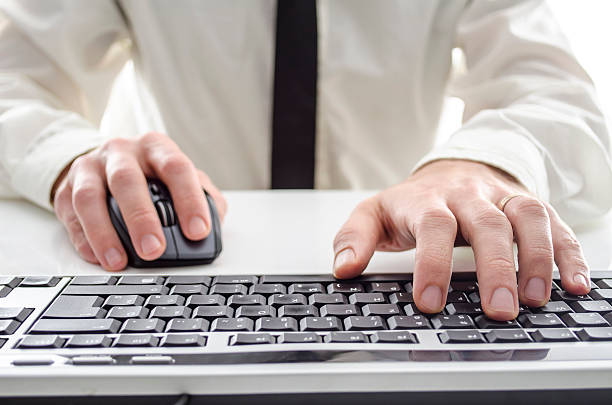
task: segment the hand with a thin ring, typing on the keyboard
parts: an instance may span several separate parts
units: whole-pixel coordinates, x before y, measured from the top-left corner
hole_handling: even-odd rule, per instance
[[[564,290],[590,290],[580,245],[555,210],[498,169],[461,160],[430,163],[359,204],[336,235],[334,275],[359,275],[375,250],[416,248],[414,300],[421,311],[435,313],[446,303],[453,246],[466,243],[474,250],[481,304],[491,319],[514,319],[519,301],[546,304],[553,262]]]

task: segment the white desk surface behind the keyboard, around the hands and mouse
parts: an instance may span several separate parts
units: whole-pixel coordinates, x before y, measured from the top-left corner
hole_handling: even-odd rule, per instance
[[[227,192],[223,252],[211,265],[148,273],[309,274],[331,271],[332,241],[353,207],[373,192]],[[81,260],[55,216],[19,200],[0,200],[0,274],[96,274]],[[612,270],[612,214],[575,229],[593,270]],[[367,272],[410,272],[414,252],[375,254]],[[473,270],[470,248],[456,248],[455,271]],[[128,272],[143,272],[128,269]]]

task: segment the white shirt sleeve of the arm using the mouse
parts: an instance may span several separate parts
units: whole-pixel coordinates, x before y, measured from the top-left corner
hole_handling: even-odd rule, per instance
[[[0,2],[0,172],[50,209],[50,191],[76,156],[100,145],[129,36],[112,1]]]

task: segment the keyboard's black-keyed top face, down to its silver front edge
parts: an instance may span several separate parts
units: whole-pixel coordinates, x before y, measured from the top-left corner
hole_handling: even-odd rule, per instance
[[[319,361],[397,349],[414,360],[500,348],[547,349],[545,358],[555,345],[594,343],[610,353],[612,272],[594,272],[591,287],[570,295],[556,278],[548,304],[498,322],[483,314],[473,273],[454,275],[439,314],[418,310],[409,274],[2,276],[0,363],[57,361],[35,353],[71,365]]]

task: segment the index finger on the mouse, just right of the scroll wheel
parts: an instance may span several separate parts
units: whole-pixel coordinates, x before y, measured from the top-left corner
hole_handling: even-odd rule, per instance
[[[210,212],[193,163],[168,138],[148,143],[147,137],[142,139],[148,165],[170,190],[183,234],[191,240],[205,238]]]

